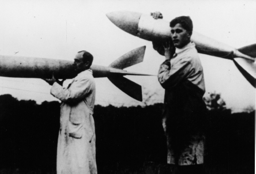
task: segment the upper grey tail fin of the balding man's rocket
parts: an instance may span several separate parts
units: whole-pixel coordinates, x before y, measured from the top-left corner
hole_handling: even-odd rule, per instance
[[[126,67],[136,65],[144,59],[146,46],[135,48],[125,55],[112,62],[109,67],[114,67],[116,69],[125,69]]]

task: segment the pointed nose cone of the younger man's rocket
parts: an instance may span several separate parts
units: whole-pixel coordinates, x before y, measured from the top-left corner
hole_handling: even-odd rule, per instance
[[[108,19],[123,31],[136,36],[141,13],[117,11],[106,14]]]

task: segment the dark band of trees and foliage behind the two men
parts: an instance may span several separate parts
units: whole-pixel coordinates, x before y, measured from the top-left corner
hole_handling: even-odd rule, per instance
[[[223,102],[218,109],[214,100],[205,125],[206,172],[254,173],[255,111],[231,114]],[[55,173],[59,105],[0,96],[0,173]],[[95,106],[99,173],[158,173],[167,168],[162,107]]]

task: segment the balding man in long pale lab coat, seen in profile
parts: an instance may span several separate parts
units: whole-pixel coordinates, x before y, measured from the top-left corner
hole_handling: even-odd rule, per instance
[[[61,100],[61,118],[57,150],[57,173],[97,173],[95,157],[95,81],[90,69],[93,56],[80,51],[74,58],[78,75],[67,88],[63,81],[45,80],[51,94]]]

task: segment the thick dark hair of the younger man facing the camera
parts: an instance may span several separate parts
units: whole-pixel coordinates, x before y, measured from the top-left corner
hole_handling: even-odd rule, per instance
[[[189,16],[180,16],[180,17],[174,18],[170,22],[170,27],[175,27],[176,24],[182,25],[182,27],[186,29],[186,31],[188,32],[192,33],[193,31],[193,22]]]

